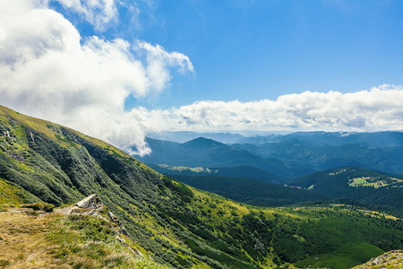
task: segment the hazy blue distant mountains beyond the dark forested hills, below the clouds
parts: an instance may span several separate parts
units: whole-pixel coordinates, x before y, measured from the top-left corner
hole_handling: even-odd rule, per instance
[[[152,153],[137,157],[149,164],[221,168],[249,166],[279,177],[357,166],[403,174],[403,133],[306,132],[243,137],[219,143],[199,137],[185,143],[147,139]]]

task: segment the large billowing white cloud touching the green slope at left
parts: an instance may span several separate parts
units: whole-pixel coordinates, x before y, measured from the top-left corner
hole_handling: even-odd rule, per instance
[[[79,2],[65,2],[80,7]],[[136,57],[141,54],[146,60]],[[187,56],[158,45],[139,41],[133,46],[124,39],[98,37],[81,42],[73,24],[46,1],[0,3],[1,103],[124,150],[132,143],[141,153],[149,151],[141,118],[124,111],[124,100],[162,91],[176,66],[193,70]]]

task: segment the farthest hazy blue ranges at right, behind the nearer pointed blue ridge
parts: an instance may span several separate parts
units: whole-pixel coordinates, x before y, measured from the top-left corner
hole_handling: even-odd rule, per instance
[[[358,166],[403,174],[403,133],[325,133],[246,137],[233,147],[316,171]],[[303,175],[299,175],[303,176]]]

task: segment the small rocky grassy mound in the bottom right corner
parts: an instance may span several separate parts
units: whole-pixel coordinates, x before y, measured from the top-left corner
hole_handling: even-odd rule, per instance
[[[393,269],[393,268],[403,268],[403,250],[392,250],[383,254],[382,256],[377,256],[371,259],[368,263],[364,265],[359,265],[354,267],[354,269]]]

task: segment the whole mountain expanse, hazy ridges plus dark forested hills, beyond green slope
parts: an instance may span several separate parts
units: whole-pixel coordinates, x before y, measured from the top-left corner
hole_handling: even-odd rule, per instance
[[[403,133],[242,139],[225,144],[203,137],[186,143],[149,138],[152,153],[139,159],[193,187],[246,204],[345,201],[403,215]]]

